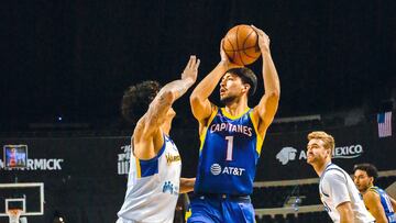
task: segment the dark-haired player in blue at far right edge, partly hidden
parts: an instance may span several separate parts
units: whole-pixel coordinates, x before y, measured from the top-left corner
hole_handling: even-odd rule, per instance
[[[376,223],[396,223],[396,201],[383,189],[374,187],[378,177],[376,167],[372,164],[359,164],[353,168],[353,180],[363,196],[366,209],[375,218]]]

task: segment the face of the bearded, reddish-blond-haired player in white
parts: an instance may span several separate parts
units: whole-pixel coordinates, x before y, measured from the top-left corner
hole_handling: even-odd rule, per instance
[[[324,148],[324,142],[318,138],[312,138],[307,145],[307,163],[324,163],[326,158],[330,156],[329,149]]]

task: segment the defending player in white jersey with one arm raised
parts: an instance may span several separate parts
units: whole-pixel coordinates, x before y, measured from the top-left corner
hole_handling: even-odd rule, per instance
[[[161,90],[157,82],[145,81],[125,91],[123,115],[132,122],[140,119],[131,140],[127,194],[117,223],[172,223],[178,194],[193,191],[195,178],[179,178],[180,156],[168,134],[176,114],[172,104],[196,81],[199,63],[190,56],[182,78]],[[138,116],[141,111],[146,112]]]

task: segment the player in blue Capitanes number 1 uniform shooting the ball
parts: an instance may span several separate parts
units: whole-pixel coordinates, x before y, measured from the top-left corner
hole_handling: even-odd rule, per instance
[[[265,133],[276,113],[280,93],[270,38],[263,31],[255,31],[263,57],[265,89],[260,103],[254,109],[248,107],[248,98],[256,89],[256,76],[249,68],[230,63],[222,49],[223,41],[220,44],[221,62],[190,96],[201,145],[188,222],[254,222],[249,196]],[[224,108],[208,99],[219,82]]]

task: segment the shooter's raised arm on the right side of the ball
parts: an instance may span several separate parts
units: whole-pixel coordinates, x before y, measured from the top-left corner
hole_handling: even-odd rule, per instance
[[[252,25],[258,35],[258,46],[263,59],[263,80],[264,80],[264,96],[260,103],[254,108],[254,112],[258,115],[260,132],[265,132],[273,122],[276,110],[278,108],[280,97],[279,78],[270,52],[270,38],[260,29]]]

